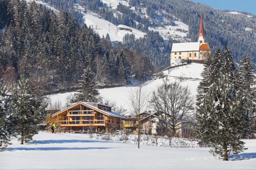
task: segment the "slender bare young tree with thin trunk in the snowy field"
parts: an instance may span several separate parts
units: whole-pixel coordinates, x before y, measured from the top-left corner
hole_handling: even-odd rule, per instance
[[[140,113],[143,113],[147,109],[147,97],[148,95],[142,90],[142,84],[140,83],[135,92],[130,93],[130,102],[133,113],[137,117],[137,128],[138,128],[138,149],[140,148]]]

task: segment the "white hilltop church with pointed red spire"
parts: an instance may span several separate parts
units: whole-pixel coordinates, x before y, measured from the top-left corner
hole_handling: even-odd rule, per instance
[[[211,56],[208,43],[204,42],[204,26],[201,16],[197,42],[173,43],[170,60],[205,60],[207,55]]]

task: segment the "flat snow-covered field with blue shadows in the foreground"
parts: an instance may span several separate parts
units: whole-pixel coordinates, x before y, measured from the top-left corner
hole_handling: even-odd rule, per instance
[[[166,148],[90,139],[85,134],[40,132],[32,143],[13,140],[0,152],[0,169],[255,169],[256,140],[245,153],[213,157],[209,148]]]

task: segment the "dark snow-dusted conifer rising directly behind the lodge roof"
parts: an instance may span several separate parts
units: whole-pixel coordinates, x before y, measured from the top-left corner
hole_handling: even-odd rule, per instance
[[[83,75],[79,80],[79,90],[75,93],[75,101],[79,102],[98,102],[97,96],[99,95],[95,86],[94,72],[90,67],[83,70]]]

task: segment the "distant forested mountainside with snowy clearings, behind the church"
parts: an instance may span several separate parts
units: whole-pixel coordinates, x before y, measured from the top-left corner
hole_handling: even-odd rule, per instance
[[[144,32],[149,30],[161,32],[161,29],[165,28],[167,32],[165,37],[168,38],[164,44],[158,34],[134,40],[135,45],[132,46],[127,45],[125,40],[123,41],[125,46],[132,51],[143,49],[143,52],[149,54],[147,56],[152,64],[157,67],[168,62],[168,53],[174,41],[197,40],[200,15],[203,15],[206,41],[209,42],[213,51],[217,47],[228,46],[237,61],[243,55],[249,54],[254,63],[256,62],[256,17],[252,14],[216,10],[187,0],[44,0],[44,2],[70,11],[73,10],[74,3],[79,3],[86,11],[93,11],[115,25],[122,24]],[[172,30],[167,30],[167,28],[177,26],[177,21],[188,25],[189,31],[176,29],[174,31],[178,33],[172,35]],[[181,37],[180,33],[187,33],[187,36]],[[131,38],[129,40],[131,42]],[[144,41],[148,40],[152,43],[144,47]]]

